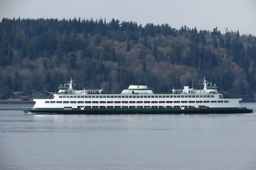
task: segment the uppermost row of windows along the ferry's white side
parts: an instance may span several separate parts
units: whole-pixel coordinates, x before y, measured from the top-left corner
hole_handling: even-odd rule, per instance
[[[65,96],[59,96],[59,98],[202,98],[202,97],[214,97],[214,95],[154,95],[154,96],[93,96],[93,95],[88,95],[88,96],[71,96],[71,95],[65,95]]]

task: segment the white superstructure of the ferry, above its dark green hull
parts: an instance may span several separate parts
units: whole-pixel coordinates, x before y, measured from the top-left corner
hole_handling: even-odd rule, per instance
[[[103,94],[100,90],[73,90],[73,80],[60,85],[59,91],[51,97],[34,99],[33,108],[239,108],[241,98],[224,98],[217,86],[208,86],[203,79],[203,89],[173,89],[172,93],[155,94],[145,84],[131,84],[120,94]],[[31,109],[33,109],[31,108]]]

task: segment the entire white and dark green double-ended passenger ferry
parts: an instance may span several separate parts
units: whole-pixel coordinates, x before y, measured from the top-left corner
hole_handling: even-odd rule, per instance
[[[134,83],[120,94],[100,90],[73,90],[73,79],[60,84],[58,93],[46,98],[35,98],[35,105],[25,114],[201,114],[201,113],[252,113],[242,107],[241,98],[225,97],[216,84],[196,90],[184,86],[169,93],[154,93],[145,84]]]

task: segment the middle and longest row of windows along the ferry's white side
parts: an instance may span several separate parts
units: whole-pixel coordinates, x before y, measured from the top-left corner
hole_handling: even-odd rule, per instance
[[[55,103],[55,101],[45,101],[45,103]],[[56,101],[62,103],[62,101]],[[63,101],[63,103],[121,103],[121,101]],[[229,103],[229,101],[122,101],[122,103]]]

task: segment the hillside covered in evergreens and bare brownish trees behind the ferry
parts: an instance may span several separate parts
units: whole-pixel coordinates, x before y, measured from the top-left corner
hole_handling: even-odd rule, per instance
[[[76,89],[121,92],[143,82],[157,92],[202,79],[220,91],[254,98],[256,38],[239,31],[197,30],[112,19],[8,19],[0,22],[0,97],[13,91]]]

